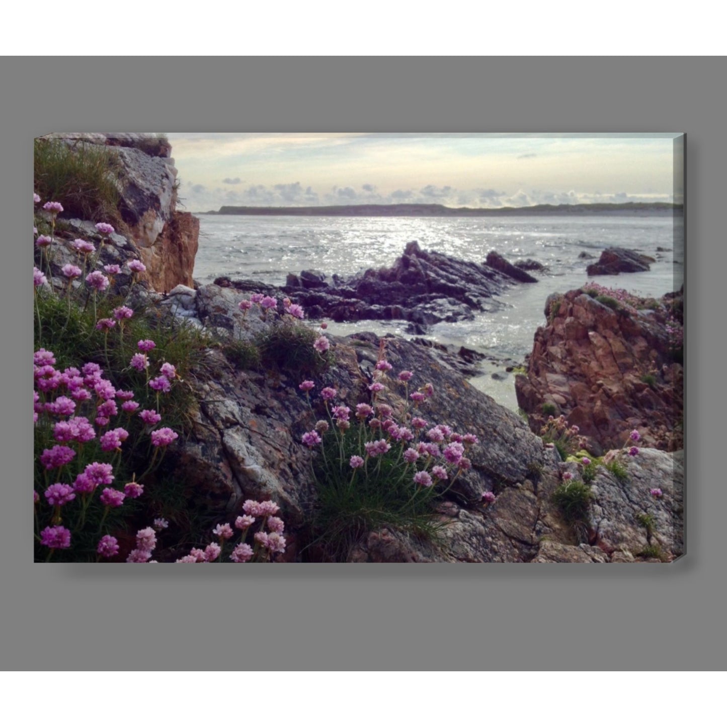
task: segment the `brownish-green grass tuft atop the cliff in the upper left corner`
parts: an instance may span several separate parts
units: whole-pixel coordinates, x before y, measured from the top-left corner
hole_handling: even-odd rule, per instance
[[[36,139],[33,170],[41,201],[60,202],[65,217],[121,222],[119,161],[111,148],[80,143],[71,149],[60,140]]]

